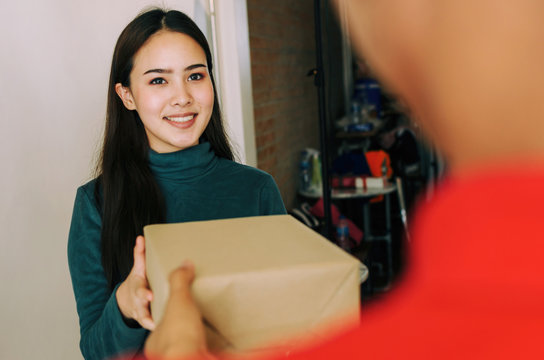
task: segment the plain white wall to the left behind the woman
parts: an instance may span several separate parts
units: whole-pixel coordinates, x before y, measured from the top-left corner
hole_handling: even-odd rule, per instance
[[[72,205],[91,177],[115,41],[150,4],[208,9],[208,0],[0,2],[0,359],[81,358],[66,260]],[[240,104],[229,105],[234,114]]]

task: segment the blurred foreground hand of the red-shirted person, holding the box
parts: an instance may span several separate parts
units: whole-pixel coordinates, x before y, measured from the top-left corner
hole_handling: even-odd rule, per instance
[[[208,353],[202,316],[191,296],[194,277],[194,265],[188,261],[170,274],[164,316],[145,343],[148,359],[215,359]]]

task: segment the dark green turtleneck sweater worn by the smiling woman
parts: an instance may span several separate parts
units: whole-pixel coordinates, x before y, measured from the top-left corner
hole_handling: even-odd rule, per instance
[[[149,164],[166,200],[167,222],[285,214],[278,188],[258,169],[218,158],[209,143],[168,154],[150,151]],[[108,287],[100,251],[96,180],[77,190],[68,237],[68,264],[86,359],[138,351],[147,337],[122,319]],[[119,284],[117,285],[119,286]]]

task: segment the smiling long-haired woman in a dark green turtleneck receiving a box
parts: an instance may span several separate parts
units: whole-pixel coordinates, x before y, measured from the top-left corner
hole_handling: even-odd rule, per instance
[[[137,352],[154,328],[145,225],[285,213],[272,177],[233,161],[210,49],[185,14],[153,9],[124,29],[108,92],[98,176],[77,191],[68,240],[86,359]]]

